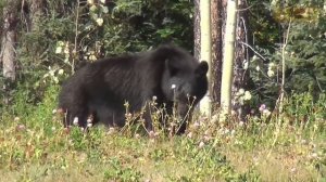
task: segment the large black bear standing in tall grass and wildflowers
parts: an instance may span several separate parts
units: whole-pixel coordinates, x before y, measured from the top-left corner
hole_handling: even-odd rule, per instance
[[[59,95],[59,107],[66,112],[64,126],[78,118],[78,125],[86,127],[88,116],[92,115],[93,123],[122,127],[127,102],[130,113],[145,110],[145,125],[151,131],[148,103],[153,96],[167,114],[176,105],[179,118],[185,119],[208,91],[208,69],[206,62],[198,62],[172,44],[87,64],[65,81]],[[186,121],[177,132],[185,130]]]

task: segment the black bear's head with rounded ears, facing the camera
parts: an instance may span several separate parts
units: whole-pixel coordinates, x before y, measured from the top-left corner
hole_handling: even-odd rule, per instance
[[[180,118],[185,118],[208,91],[209,65],[198,62],[184,50],[173,50],[165,60],[162,90],[166,100],[177,106]]]

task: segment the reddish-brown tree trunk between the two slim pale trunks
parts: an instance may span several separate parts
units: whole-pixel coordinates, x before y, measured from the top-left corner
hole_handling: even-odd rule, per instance
[[[223,24],[222,0],[211,0],[211,31],[212,31],[212,100],[213,108],[221,104],[221,81],[222,81],[222,24]]]

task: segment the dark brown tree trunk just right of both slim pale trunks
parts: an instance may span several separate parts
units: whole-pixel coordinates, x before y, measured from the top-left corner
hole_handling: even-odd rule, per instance
[[[234,66],[234,83],[233,83],[233,110],[236,112],[238,119],[244,121],[246,115],[249,113],[249,106],[243,101],[239,101],[236,93],[240,89],[248,90],[249,78],[249,50],[242,43],[250,44],[248,40],[248,15],[247,15],[247,1],[238,0],[238,14],[237,14],[237,30],[236,30],[236,49],[235,49],[235,66]],[[242,98],[243,100],[243,98]]]

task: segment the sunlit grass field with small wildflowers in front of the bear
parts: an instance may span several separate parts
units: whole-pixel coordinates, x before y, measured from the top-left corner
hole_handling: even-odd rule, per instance
[[[34,107],[17,99],[2,114],[0,181],[326,181],[324,101],[289,100],[279,117],[247,123],[197,116],[184,135],[148,136],[135,127],[66,130],[55,95]]]

